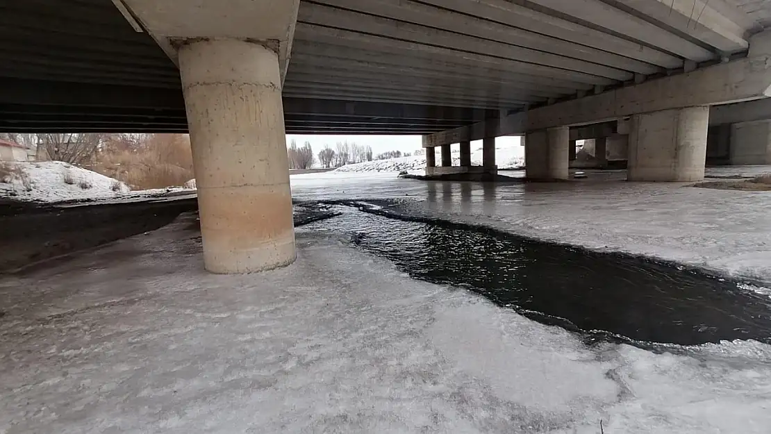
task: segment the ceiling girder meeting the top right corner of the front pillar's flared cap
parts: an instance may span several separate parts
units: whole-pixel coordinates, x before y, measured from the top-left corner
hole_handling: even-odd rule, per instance
[[[517,45],[507,45],[487,39],[480,39],[460,33],[434,29],[409,22],[401,22],[345,9],[328,8],[314,3],[304,3],[298,14],[298,22],[315,25],[329,25],[350,32],[379,35],[389,39],[400,39],[416,44],[433,45],[456,52],[476,53],[480,56],[493,56],[502,59],[517,59],[551,69],[567,69],[618,81],[626,81],[633,76],[631,72],[611,68],[597,63],[585,62],[557,56],[548,52],[526,49]]]

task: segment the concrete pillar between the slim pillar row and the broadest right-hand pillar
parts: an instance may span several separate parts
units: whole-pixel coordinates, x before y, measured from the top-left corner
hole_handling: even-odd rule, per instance
[[[570,143],[567,126],[527,133],[525,175],[537,180],[567,180]]]

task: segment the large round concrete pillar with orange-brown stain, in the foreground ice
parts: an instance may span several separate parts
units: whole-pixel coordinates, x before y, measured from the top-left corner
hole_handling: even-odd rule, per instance
[[[247,273],[295,261],[278,56],[258,43],[179,50],[204,266]]]

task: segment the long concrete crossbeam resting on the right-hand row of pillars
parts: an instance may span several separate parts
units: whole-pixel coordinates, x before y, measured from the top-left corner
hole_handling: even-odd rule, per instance
[[[635,113],[692,106],[712,106],[771,96],[771,56],[738,59],[703,69],[653,79],[551,106],[514,113],[423,137],[423,146],[521,134],[554,126],[574,126],[618,119]]]

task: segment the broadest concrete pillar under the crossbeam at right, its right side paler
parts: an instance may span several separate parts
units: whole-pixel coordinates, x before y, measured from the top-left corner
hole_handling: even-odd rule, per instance
[[[631,117],[631,181],[704,179],[709,107],[669,109]]]

